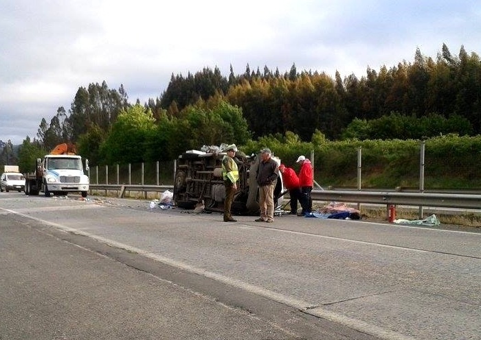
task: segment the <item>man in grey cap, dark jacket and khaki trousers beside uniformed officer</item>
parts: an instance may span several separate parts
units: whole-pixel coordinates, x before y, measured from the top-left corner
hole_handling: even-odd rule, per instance
[[[274,188],[279,175],[278,163],[271,158],[270,149],[260,150],[256,182],[259,185],[260,218],[256,222],[274,221]]]

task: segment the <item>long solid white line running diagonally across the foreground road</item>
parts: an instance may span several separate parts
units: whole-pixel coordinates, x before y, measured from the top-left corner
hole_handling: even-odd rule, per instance
[[[63,224],[60,223],[54,223],[51,221],[46,221],[45,219],[38,219],[36,217],[32,217],[30,215],[26,215],[24,213],[20,213],[16,210],[10,210],[10,209],[4,209],[0,208],[1,210],[8,211],[8,213],[16,214],[21,217],[26,217],[28,219],[33,219],[34,221],[38,221],[40,223],[43,223],[47,226],[52,226],[54,228],[58,228],[60,230],[64,230],[66,232],[72,232],[74,234],[82,235],[82,236],[88,236],[91,239],[96,239],[97,241],[100,241],[102,243],[106,243],[108,245],[112,245],[113,247],[119,247],[124,250],[128,250],[129,252],[135,252],[137,254],[142,254],[142,256],[145,256],[146,258],[151,258],[153,260],[157,260],[161,263],[164,263],[166,265],[170,265],[172,267],[177,267],[179,269],[183,269],[185,271],[190,271],[191,273],[205,276],[206,278],[212,278],[213,280],[222,282],[224,284],[229,284],[230,286],[244,289],[245,291],[248,291],[249,293],[254,293],[256,295],[263,296],[265,298],[268,298],[270,300],[280,302],[282,304],[285,304],[287,306],[291,306],[293,308],[298,308],[300,311],[306,314],[314,315],[317,317],[322,317],[324,319],[328,319],[334,322],[337,322],[339,324],[343,324],[345,326],[348,326],[349,328],[353,328],[355,330],[359,330],[361,332],[365,332],[369,335],[373,335],[376,337],[380,337],[381,339],[385,340],[416,340],[414,337],[410,337],[408,335],[403,335],[399,332],[394,332],[392,330],[387,330],[385,328],[381,328],[379,326],[375,326],[372,324],[368,324],[365,321],[361,321],[358,319],[354,319],[352,317],[347,317],[346,315],[342,315],[339,313],[334,313],[331,311],[328,311],[322,307],[316,307],[312,308],[313,306],[312,303],[306,302],[304,300],[298,300],[292,296],[288,295],[283,295],[280,293],[276,293],[274,291],[269,291],[269,289],[264,289],[262,287],[258,287],[254,284],[249,284],[247,282],[243,282],[240,280],[236,280],[234,278],[229,278],[227,276],[223,276],[221,274],[216,274],[212,271],[207,271],[205,269],[199,268],[199,267],[194,267],[192,265],[189,265],[187,263],[183,263],[178,260],[174,260],[172,258],[166,258],[164,256],[160,256],[151,252],[146,252],[146,250],[142,250],[137,247],[133,247],[131,245],[127,245],[125,243],[120,243],[117,241],[113,241],[111,239],[107,239],[102,236],[98,236],[95,234],[91,234],[89,232],[84,232],[82,230],[78,230],[75,228],[70,228],[67,226],[64,226]]]

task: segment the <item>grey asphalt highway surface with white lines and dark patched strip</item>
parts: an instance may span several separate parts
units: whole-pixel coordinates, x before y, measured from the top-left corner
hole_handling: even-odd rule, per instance
[[[481,234],[0,195],[0,339],[481,339]]]

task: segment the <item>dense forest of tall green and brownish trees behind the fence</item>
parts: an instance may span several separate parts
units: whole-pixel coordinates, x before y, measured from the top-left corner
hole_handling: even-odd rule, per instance
[[[159,85],[160,86],[160,85]],[[201,145],[247,145],[263,136],[313,141],[425,139],[442,134],[481,132],[481,62],[460,47],[443,45],[436,60],[419,49],[414,61],[360,79],[319,71],[286,73],[251,70],[226,77],[217,67],[174,75],[157,98],[132,104],[123,85],[106,82],[78,88],[71,107],[42,119],[33,140],[27,136],[19,165],[70,141],[91,164],[172,160]],[[12,157],[3,147],[0,163]],[[6,151],[5,151],[6,150]],[[24,163],[24,164],[23,164]]]

